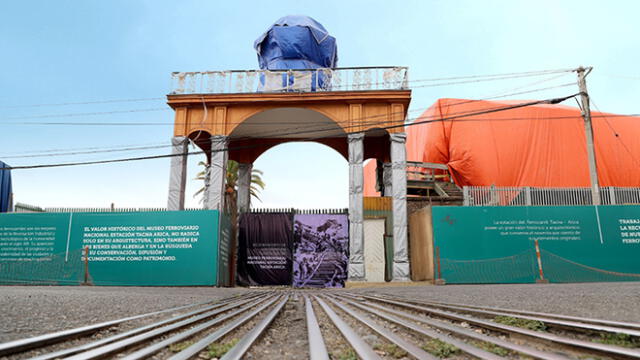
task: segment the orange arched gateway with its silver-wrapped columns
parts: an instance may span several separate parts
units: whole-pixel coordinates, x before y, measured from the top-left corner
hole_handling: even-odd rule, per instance
[[[408,280],[406,150],[402,125],[410,91],[371,90],[243,94],[169,95],[176,110],[169,207],[180,209],[185,179],[186,137],[211,134],[196,142],[210,159],[205,207],[223,209],[227,159],[238,161],[238,208],[249,209],[253,162],[268,149],[292,141],[325,144],[349,162],[349,278],[364,279],[363,160],[388,166],[393,189],[393,279]],[[383,130],[386,129],[386,130]],[[303,157],[302,157],[303,159]],[[182,162],[181,162],[182,161]],[[302,160],[303,161],[303,160]],[[182,204],[184,202],[182,201]]]

